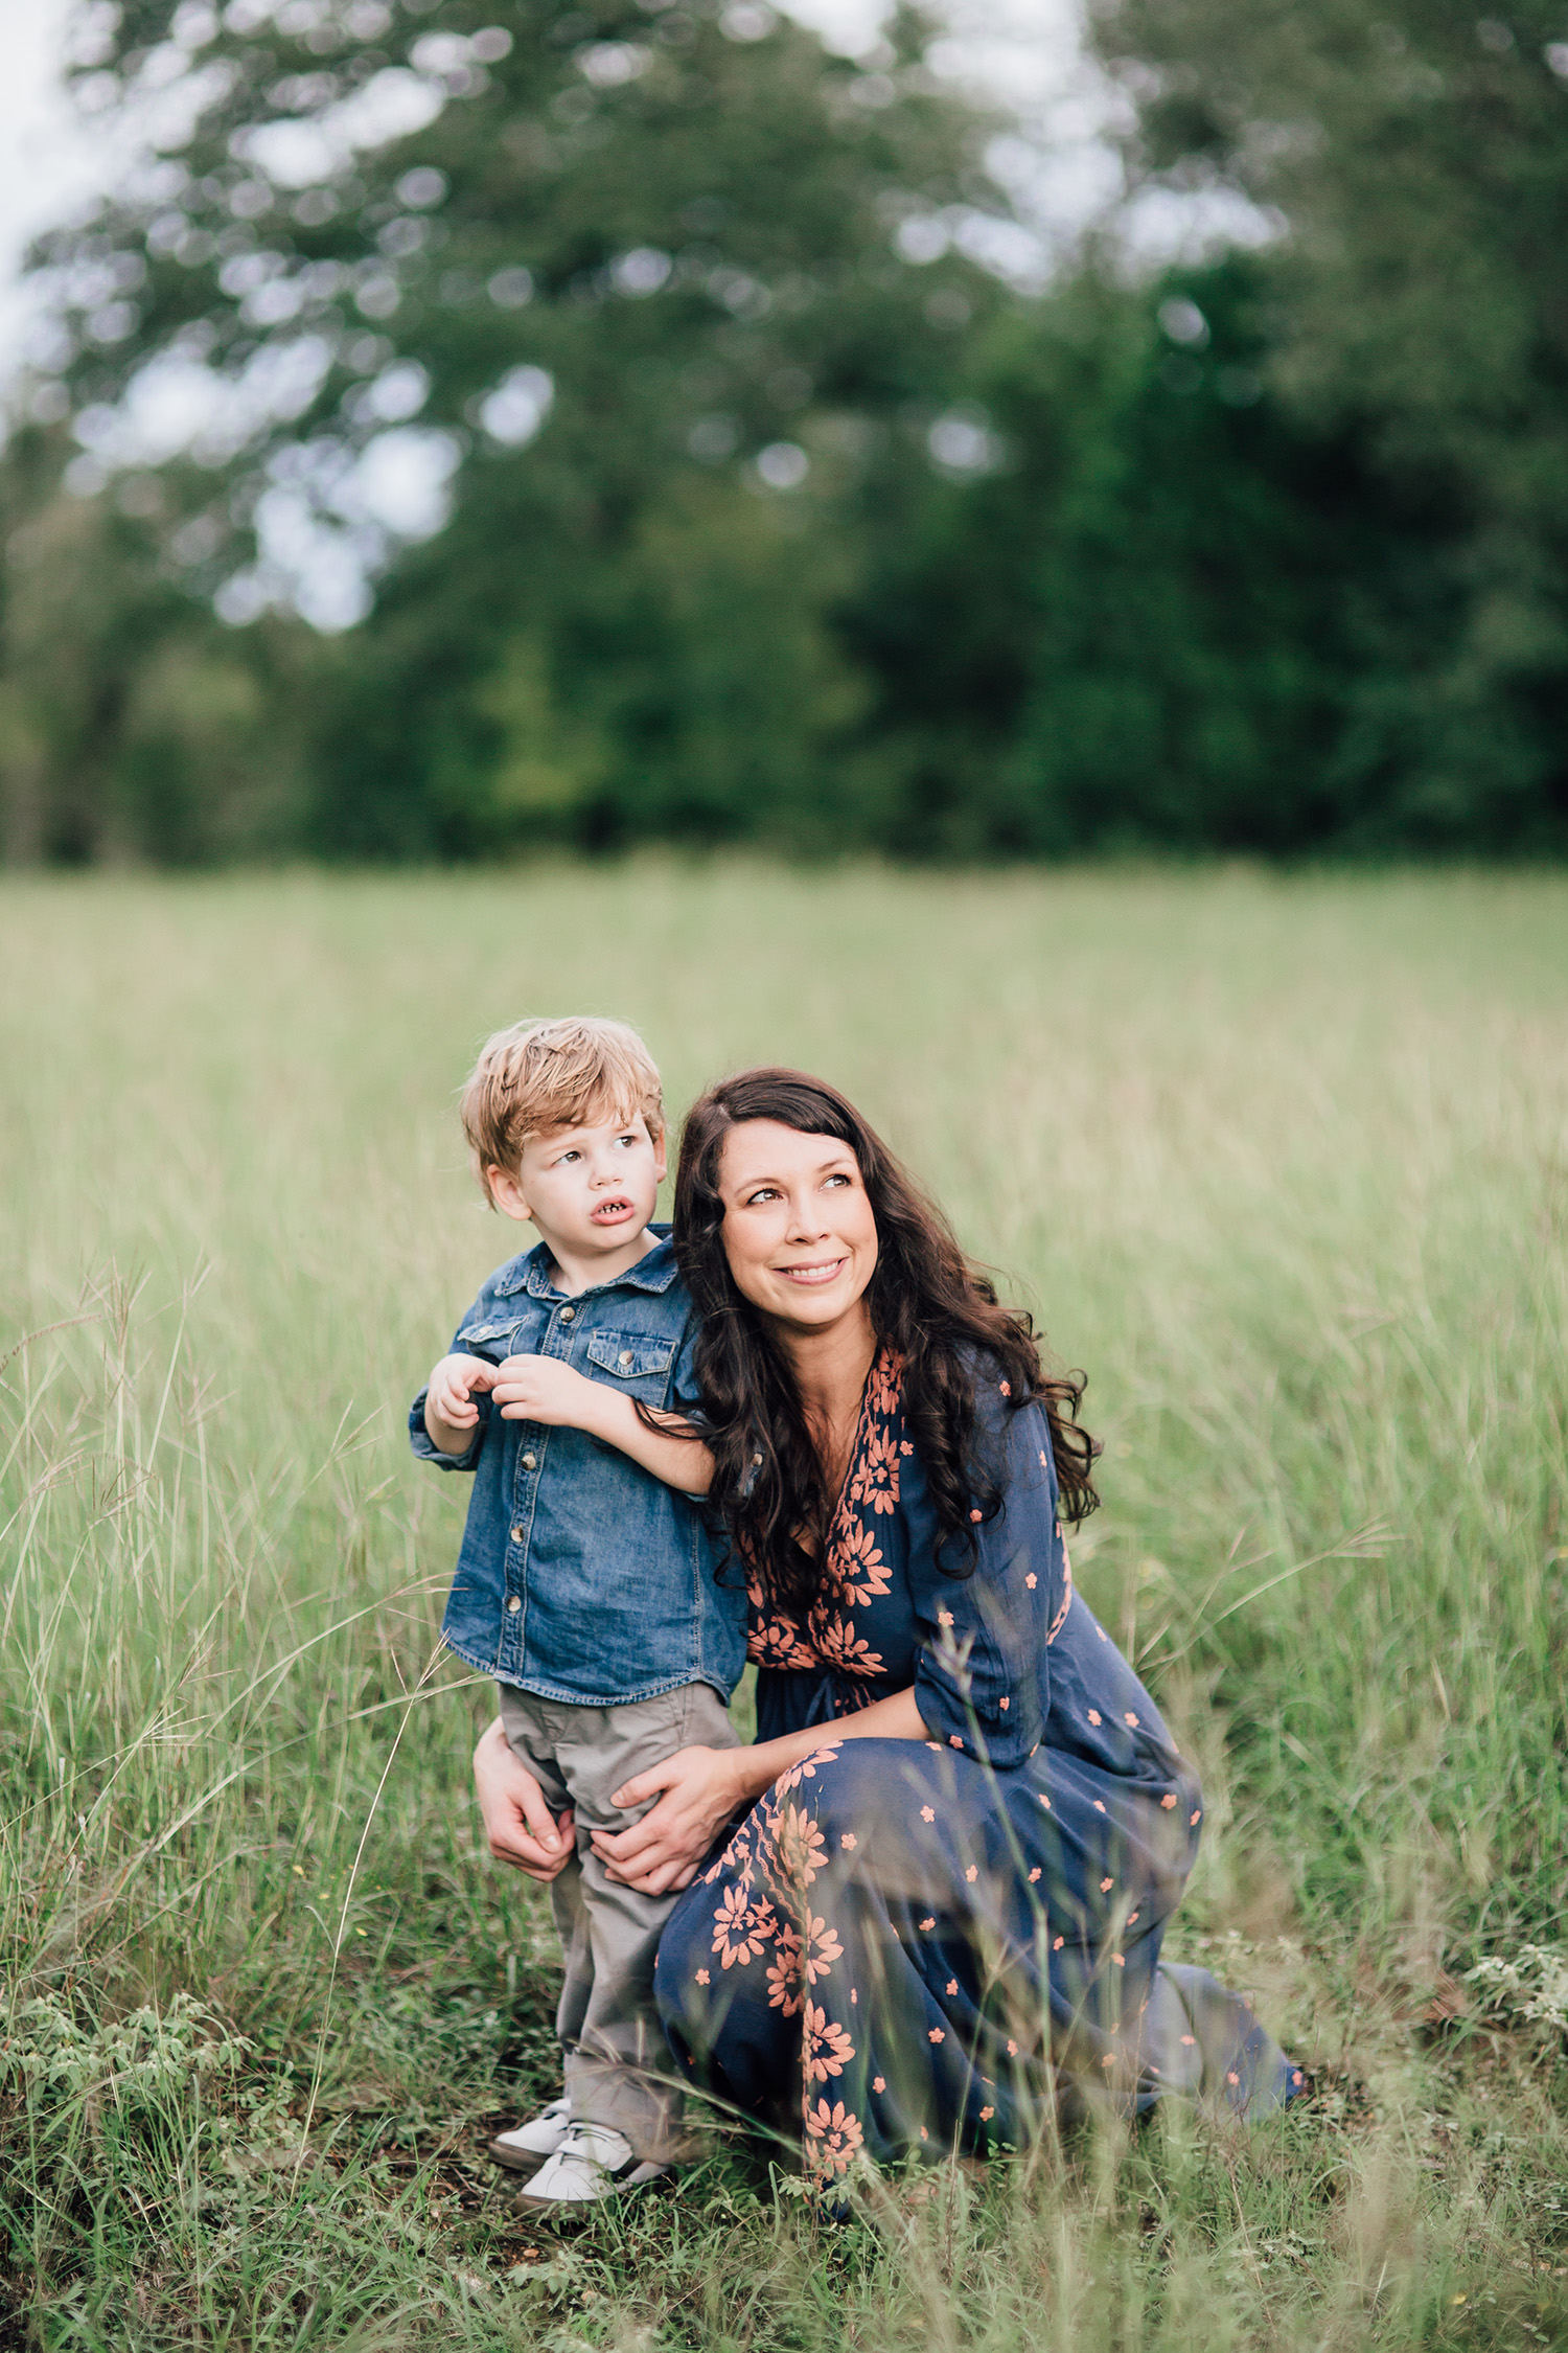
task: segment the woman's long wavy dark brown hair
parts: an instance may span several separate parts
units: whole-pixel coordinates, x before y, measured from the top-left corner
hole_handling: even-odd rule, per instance
[[[710,1087],[682,1129],[675,1174],[675,1254],[698,1311],[696,1379],[715,1454],[710,1511],[769,1598],[804,1614],[816,1598],[837,1497],[827,1492],[785,1353],[736,1287],[724,1252],[719,1165],[743,1120],[778,1120],[846,1144],[877,1219],[877,1271],[865,1304],[877,1341],[903,1358],[903,1402],[940,1527],[938,1560],[973,1574],[973,1513],[1001,1508],[976,1428],[976,1360],[1009,1384],[1011,1405],[1046,1409],[1063,1515],[1100,1501],[1091,1471],[1098,1440],[1079,1428],[1084,1374],[1041,1372],[1034,1322],[997,1304],[947,1219],[867,1127],[856,1106],[802,1071],[741,1071]]]

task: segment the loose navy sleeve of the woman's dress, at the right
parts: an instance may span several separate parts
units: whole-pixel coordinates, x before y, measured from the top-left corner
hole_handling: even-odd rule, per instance
[[[976,1409],[1001,1511],[976,1522],[971,1577],[945,1577],[936,1548],[922,1546],[910,1560],[922,1635],[914,1697],[933,1741],[1006,1772],[1034,1753],[1051,1706],[1048,1645],[1065,1595],[1065,1551],[1044,1409],[1011,1412],[994,1374],[980,1374]]]

